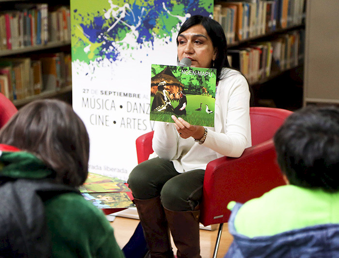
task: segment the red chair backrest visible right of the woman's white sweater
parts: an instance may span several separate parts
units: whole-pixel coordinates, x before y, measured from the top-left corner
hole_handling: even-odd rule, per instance
[[[277,129],[291,113],[291,111],[277,108],[250,108],[252,146],[273,138]]]

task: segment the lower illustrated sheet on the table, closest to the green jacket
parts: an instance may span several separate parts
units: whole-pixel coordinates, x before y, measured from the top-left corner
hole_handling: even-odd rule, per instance
[[[99,209],[135,207],[125,192],[120,193],[83,193],[86,200],[91,201]]]

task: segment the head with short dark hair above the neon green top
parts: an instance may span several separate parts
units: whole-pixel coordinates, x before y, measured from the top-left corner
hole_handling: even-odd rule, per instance
[[[290,184],[339,191],[339,109],[306,107],[274,136],[277,161]]]

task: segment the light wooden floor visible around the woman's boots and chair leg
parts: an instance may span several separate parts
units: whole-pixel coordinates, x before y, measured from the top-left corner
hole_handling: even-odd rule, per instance
[[[139,220],[116,217],[111,226],[114,228],[115,238],[121,248],[128,242],[132,236]],[[212,258],[214,246],[216,243],[216,230],[200,229],[200,255],[201,258]],[[227,224],[224,224],[223,232],[221,235],[220,245],[218,249],[217,258],[223,258],[232,242],[232,236],[227,230]],[[174,253],[176,253],[175,245],[172,242]]]

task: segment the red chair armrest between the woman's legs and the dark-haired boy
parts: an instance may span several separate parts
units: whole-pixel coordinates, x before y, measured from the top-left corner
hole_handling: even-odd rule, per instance
[[[204,226],[226,223],[230,201],[244,203],[284,184],[273,140],[245,149],[240,158],[211,161],[204,177],[200,222]]]

